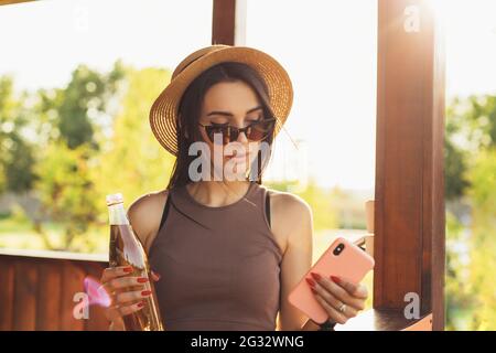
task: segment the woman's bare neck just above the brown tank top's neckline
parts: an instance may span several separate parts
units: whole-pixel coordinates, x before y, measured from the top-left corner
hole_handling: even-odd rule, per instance
[[[186,185],[196,202],[209,207],[222,207],[239,201],[250,186],[250,181],[198,181]]]

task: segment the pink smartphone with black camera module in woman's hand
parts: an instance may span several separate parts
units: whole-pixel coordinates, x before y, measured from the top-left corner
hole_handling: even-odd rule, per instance
[[[327,278],[336,276],[349,282],[359,284],[365,275],[374,268],[374,264],[370,255],[345,238],[338,237],[298,282],[288,300],[313,321],[323,323],[328,315],[315,299],[315,295],[312,293],[305,280],[305,278],[312,278],[310,272],[319,272]]]

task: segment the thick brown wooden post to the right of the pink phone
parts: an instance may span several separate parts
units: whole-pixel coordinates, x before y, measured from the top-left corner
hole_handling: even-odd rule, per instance
[[[374,308],[417,293],[442,330],[444,56],[428,2],[378,2]]]

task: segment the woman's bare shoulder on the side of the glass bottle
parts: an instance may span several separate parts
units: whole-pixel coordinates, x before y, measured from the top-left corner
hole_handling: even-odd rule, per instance
[[[168,193],[166,190],[147,193],[136,199],[128,208],[132,228],[144,246],[159,231]]]

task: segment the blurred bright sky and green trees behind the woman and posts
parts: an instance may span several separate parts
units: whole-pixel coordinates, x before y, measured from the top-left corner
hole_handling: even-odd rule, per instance
[[[496,3],[434,3],[446,45],[446,329],[495,330]],[[335,235],[367,233],[377,1],[246,6],[246,45],[278,58],[295,90],[265,184],[312,206],[316,258]],[[1,248],[108,252],[105,195],[122,192],[128,206],[166,186],[174,160],[149,109],[211,30],[204,0],[0,7]]]

